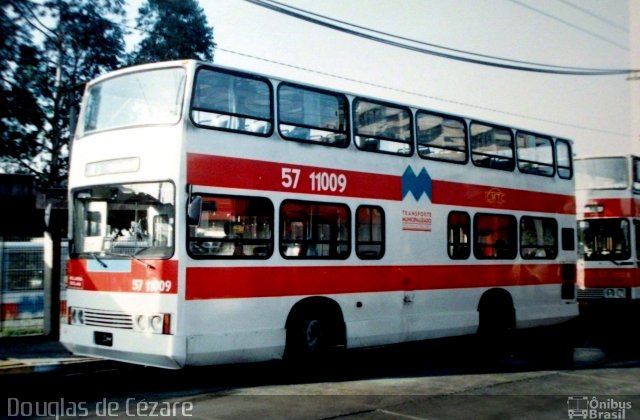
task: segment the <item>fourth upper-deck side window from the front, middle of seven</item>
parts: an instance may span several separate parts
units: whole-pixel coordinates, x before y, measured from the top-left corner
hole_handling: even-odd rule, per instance
[[[416,125],[420,157],[455,163],[467,161],[467,127],[464,120],[418,111]]]

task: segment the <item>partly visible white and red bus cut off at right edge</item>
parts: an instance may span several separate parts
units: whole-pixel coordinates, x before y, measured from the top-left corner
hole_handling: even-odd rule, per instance
[[[581,303],[640,299],[640,158],[576,160]]]

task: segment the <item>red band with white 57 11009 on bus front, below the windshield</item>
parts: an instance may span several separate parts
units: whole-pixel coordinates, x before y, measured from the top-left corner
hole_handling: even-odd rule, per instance
[[[107,265],[109,260],[104,261]],[[67,262],[67,288],[102,292],[178,293],[178,261],[131,260],[130,272],[89,271],[87,260]]]

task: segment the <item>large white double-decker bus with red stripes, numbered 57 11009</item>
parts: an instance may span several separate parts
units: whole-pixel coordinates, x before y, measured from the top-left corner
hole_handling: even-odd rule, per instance
[[[61,342],[165,368],[578,315],[571,142],[198,61],[86,87]]]

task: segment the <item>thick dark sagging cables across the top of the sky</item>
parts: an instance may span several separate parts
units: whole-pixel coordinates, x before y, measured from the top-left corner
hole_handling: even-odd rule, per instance
[[[379,43],[383,43],[383,44],[387,44],[387,45],[391,45],[394,47],[398,47],[398,48],[403,48],[403,49],[407,49],[410,51],[414,51],[414,52],[419,52],[422,54],[428,54],[428,55],[433,55],[436,57],[441,57],[441,58],[446,58],[446,59],[451,59],[451,60],[456,60],[456,61],[462,61],[462,62],[466,62],[466,63],[470,63],[470,64],[478,64],[478,65],[484,65],[484,66],[489,66],[489,67],[497,67],[497,68],[502,68],[502,69],[507,69],[507,70],[519,70],[519,71],[527,71],[527,72],[534,72],[534,73],[546,73],[546,74],[558,74],[558,75],[574,75],[574,76],[605,76],[605,75],[618,75],[618,74],[629,74],[629,73],[634,73],[634,70],[628,70],[628,69],[578,69],[578,68],[571,68],[571,67],[553,67],[553,66],[549,66],[549,65],[535,65],[535,66],[531,66],[531,65],[524,65],[522,63],[518,63],[515,60],[508,60],[508,59],[500,59],[505,61],[505,63],[498,63],[495,61],[488,61],[488,60],[484,60],[484,59],[480,59],[480,58],[470,58],[470,57],[463,57],[460,55],[455,55],[455,54],[451,54],[451,53],[445,53],[445,52],[440,52],[440,51],[434,51],[432,49],[427,49],[427,48],[421,48],[421,47],[417,47],[417,46],[413,46],[413,45],[407,45],[398,41],[394,41],[391,39],[385,39],[385,38],[381,38],[378,36],[374,36],[374,35],[370,35],[370,34],[366,34],[363,32],[359,32],[355,29],[350,29],[347,28],[345,26],[341,26],[341,25],[337,25],[335,23],[331,23],[330,18],[326,18],[323,17],[324,20],[318,19],[313,17],[314,15],[309,13],[309,12],[297,12],[296,9],[290,7],[290,6],[284,6],[281,3],[277,3],[273,0],[245,0],[249,3],[255,4],[257,6],[260,7],[264,7],[267,9],[270,9],[272,11],[275,11],[277,13],[280,14],[284,14],[287,16],[291,16],[294,17],[296,19],[300,19],[300,20],[304,20],[307,21],[309,23],[313,23],[316,25],[320,25],[329,29],[333,29],[333,30],[337,30],[340,32],[344,32],[350,35],[354,35],[357,37],[361,37],[361,38],[365,38],[368,39],[370,41],[374,41],[374,42],[379,42]],[[512,0],[513,1],[513,0]],[[284,6],[284,7],[283,7]],[[300,10],[300,9],[298,9]],[[316,15],[316,16],[321,16],[321,15]],[[335,20],[334,20],[335,21]],[[339,22],[339,21],[337,21]],[[357,27],[355,25],[351,25],[348,24],[349,26],[352,27]],[[372,33],[376,33],[377,31],[374,30],[367,30],[369,32]],[[380,32],[378,32],[380,33]],[[419,41],[418,41],[419,42]],[[425,44],[425,43],[422,43]],[[439,47],[441,49],[446,49],[444,47]],[[449,49],[451,50],[451,49]],[[464,52],[467,55],[475,55],[476,57],[481,57],[479,54],[474,54],[474,53],[468,53],[468,52]],[[512,64],[508,64],[509,62],[511,62]]]

